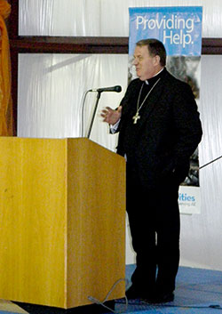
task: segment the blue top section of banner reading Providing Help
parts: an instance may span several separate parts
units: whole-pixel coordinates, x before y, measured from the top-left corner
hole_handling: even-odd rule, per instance
[[[202,7],[169,6],[130,8],[129,54],[140,39],[163,42],[168,56],[200,56]]]

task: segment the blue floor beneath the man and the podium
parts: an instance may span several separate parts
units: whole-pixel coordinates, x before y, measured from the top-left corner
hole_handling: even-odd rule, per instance
[[[134,267],[134,265],[126,266],[126,278],[131,278]],[[174,302],[157,306],[135,300],[130,301],[126,306],[124,300],[117,300],[115,312],[123,314],[222,314],[222,272],[180,267]],[[12,302],[0,301],[0,314],[19,313],[28,313],[28,311],[22,310]],[[110,311],[104,309],[104,313],[107,314]]]

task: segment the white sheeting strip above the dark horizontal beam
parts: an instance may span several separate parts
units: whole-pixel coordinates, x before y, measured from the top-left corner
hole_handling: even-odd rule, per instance
[[[129,36],[129,7],[178,5],[202,6],[202,36],[221,36],[221,0],[20,0],[20,36]]]

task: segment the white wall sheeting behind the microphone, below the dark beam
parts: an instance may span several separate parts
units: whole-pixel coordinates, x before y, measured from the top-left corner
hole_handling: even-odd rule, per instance
[[[91,129],[91,140],[115,150],[116,136],[109,134],[99,113],[115,108],[127,85],[126,55],[20,54],[18,135],[20,137],[80,137],[83,96],[91,88],[121,85],[122,93],[101,93]],[[97,93],[87,93],[83,111],[88,133]]]

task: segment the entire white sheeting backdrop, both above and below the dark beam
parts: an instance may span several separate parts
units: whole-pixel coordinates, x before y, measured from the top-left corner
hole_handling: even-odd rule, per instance
[[[202,5],[203,37],[222,35],[222,2],[127,0],[20,0],[22,36],[128,36],[128,7]],[[199,110],[203,138],[200,165],[222,155],[222,56],[202,56]],[[81,136],[84,93],[97,87],[121,85],[122,93],[102,93],[91,140],[115,150],[99,111],[115,108],[127,86],[128,55],[20,54],[18,136]],[[96,93],[88,93],[84,125],[89,126]],[[181,216],[181,265],[222,270],[222,158],[200,170],[201,214]],[[127,236],[126,262],[134,262]]]

